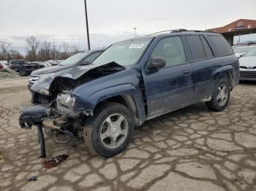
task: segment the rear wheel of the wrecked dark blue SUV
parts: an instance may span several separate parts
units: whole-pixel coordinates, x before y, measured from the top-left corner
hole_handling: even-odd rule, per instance
[[[225,96],[223,93],[225,94]],[[221,112],[223,109],[226,108],[229,101],[230,84],[227,82],[227,79],[221,78],[217,81],[214,87],[214,93],[211,97],[211,101],[206,102],[206,106],[208,107],[208,109],[211,109],[214,112]]]

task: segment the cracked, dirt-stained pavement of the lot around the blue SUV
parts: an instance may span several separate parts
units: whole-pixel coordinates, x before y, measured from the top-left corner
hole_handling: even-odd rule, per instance
[[[18,107],[31,98],[27,80],[0,81],[0,190],[256,190],[256,82],[238,85],[223,112],[195,104],[146,122],[109,159],[46,136],[48,158],[69,157],[45,169],[36,128],[18,126]]]

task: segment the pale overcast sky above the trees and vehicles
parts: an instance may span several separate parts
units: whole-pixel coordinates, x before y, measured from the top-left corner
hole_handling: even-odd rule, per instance
[[[239,2],[239,3],[238,3]],[[173,28],[225,26],[239,18],[256,20],[256,1],[87,0],[91,47],[105,47],[137,34]],[[28,36],[86,47],[83,0],[0,0],[0,40],[26,46]],[[256,36],[250,36],[250,38]]]

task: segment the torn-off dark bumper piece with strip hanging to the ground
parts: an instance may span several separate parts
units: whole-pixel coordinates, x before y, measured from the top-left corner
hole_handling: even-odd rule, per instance
[[[39,106],[39,105],[32,105],[32,106],[21,106],[20,107],[20,117],[19,117],[19,124],[20,128],[23,129],[31,129],[32,125],[37,126],[37,136],[40,142],[41,154],[40,157],[46,157],[45,152],[45,137],[42,131],[42,119],[47,117],[46,114],[48,110],[48,106]]]

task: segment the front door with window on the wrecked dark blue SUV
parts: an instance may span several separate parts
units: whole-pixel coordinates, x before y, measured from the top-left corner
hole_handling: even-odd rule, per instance
[[[146,71],[143,80],[148,103],[148,118],[173,111],[191,101],[193,94],[192,66],[187,62],[181,36],[161,39],[151,58],[162,57],[166,66],[159,71]]]

